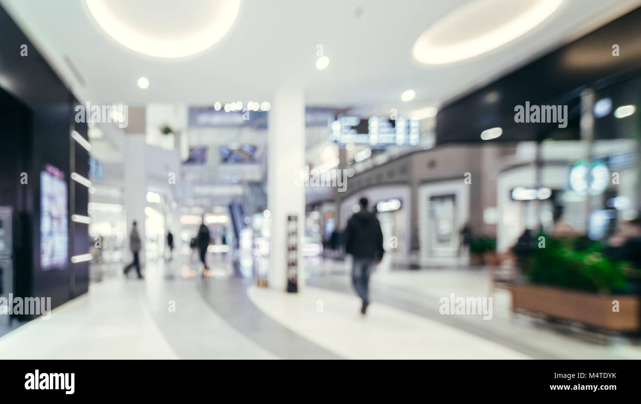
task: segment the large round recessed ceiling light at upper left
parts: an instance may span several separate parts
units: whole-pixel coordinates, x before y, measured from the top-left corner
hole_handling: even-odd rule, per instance
[[[202,52],[229,31],[240,0],[85,0],[97,24],[131,50],[157,58]]]

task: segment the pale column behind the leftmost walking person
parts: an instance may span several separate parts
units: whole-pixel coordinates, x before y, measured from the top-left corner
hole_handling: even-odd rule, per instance
[[[138,222],[138,235],[142,242],[140,260],[145,256],[145,206],[147,206],[147,172],[145,170],[145,134],[124,135],[124,208],[127,214],[127,253],[125,261],[131,261],[129,254],[129,233],[131,223]]]

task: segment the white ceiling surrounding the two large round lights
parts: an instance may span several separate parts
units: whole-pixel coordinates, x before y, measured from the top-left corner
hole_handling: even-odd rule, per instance
[[[501,7],[504,0],[479,1],[496,6],[501,20],[509,20],[505,13],[510,10]],[[476,2],[241,0],[233,25],[213,46],[184,58],[158,58],[117,42],[97,24],[83,0],[0,0],[80,100],[129,105],[262,102],[271,101],[280,82],[296,81],[304,86],[308,105],[414,108],[438,106],[479,88],[641,1],[565,0],[542,24],[497,49],[445,65],[416,61],[412,49],[417,39],[469,3]],[[206,31],[211,23],[206,15],[214,19],[226,9],[219,1],[203,0],[110,4],[110,13],[121,15],[122,24],[170,39]],[[487,21],[474,29],[491,27],[492,14],[478,15],[478,20]],[[439,27],[438,38],[447,43],[450,32],[455,41],[462,29]],[[317,45],[329,58],[324,70],[315,67]],[[143,76],[149,79],[147,89],[137,85]],[[414,89],[416,97],[401,102],[406,89]]]

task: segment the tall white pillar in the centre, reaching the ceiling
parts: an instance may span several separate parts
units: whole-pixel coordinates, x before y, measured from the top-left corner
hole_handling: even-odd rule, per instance
[[[305,103],[301,86],[281,86],[274,93],[268,120],[267,208],[271,212],[269,284],[287,288],[287,217],[296,215],[297,283],[303,286],[304,187],[294,185],[294,174],[305,164]]]

